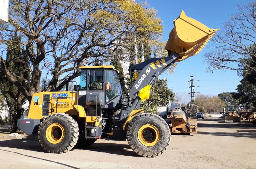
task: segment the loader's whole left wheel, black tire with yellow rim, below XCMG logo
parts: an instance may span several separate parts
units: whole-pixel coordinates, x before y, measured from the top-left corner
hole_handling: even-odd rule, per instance
[[[78,140],[77,122],[68,114],[55,113],[44,118],[38,129],[38,140],[49,153],[65,153]]]

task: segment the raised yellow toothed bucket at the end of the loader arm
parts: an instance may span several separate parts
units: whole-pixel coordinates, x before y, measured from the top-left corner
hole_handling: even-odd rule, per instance
[[[187,59],[198,54],[204,45],[212,38],[212,35],[219,29],[210,29],[201,22],[186,16],[181,11],[180,16],[173,21],[174,28],[170,32],[165,49],[171,54],[179,54],[176,62]]]

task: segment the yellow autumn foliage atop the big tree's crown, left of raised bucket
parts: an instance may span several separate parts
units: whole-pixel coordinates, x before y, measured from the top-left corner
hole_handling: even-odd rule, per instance
[[[132,0],[104,0],[104,4],[114,3],[115,8],[102,8],[92,16],[100,24],[118,27],[122,24],[134,27],[136,33],[162,33],[162,21],[156,18],[157,11],[146,8]],[[128,21],[128,22],[127,22]]]

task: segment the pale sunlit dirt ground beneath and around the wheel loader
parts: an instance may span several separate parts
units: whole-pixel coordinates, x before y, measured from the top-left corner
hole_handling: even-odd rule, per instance
[[[33,138],[1,138],[0,155],[1,168],[256,168],[256,129],[223,118],[198,120],[198,134],[172,135],[156,158],[137,156],[127,141],[107,140],[49,154]]]

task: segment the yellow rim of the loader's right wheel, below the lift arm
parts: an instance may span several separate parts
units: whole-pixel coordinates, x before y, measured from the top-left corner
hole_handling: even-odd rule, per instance
[[[138,139],[142,145],[151,147],[156,145],[160,137],[158,129],[151,124],[145,124],[138,131]]]

